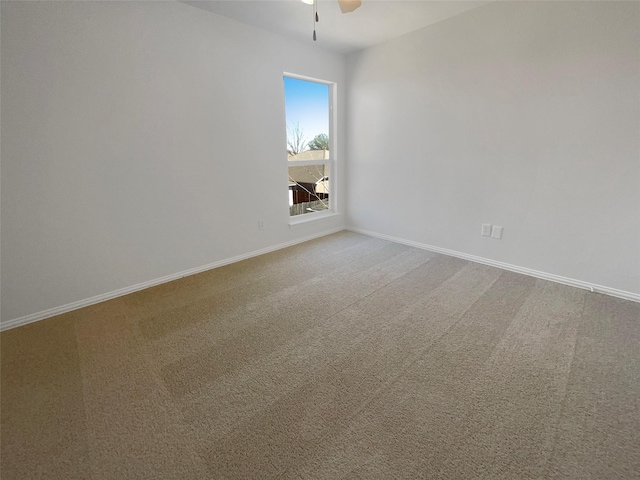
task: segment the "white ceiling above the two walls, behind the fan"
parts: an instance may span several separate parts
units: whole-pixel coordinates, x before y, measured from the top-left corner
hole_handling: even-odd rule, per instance
[[[300,0],[180,0],[286,37],[338,53],[351,53],[418,30],[492,0],[362,0],[343,14],[336,0],[319,0],[313,41],[313,7]]]

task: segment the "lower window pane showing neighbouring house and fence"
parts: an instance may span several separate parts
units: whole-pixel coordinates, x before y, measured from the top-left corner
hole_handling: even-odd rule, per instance
[[[289,165],[290,215],[329,208],[329,164]]]

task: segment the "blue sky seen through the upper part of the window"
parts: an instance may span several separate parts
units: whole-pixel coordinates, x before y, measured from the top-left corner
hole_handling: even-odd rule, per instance
[[[329,85],[284,77],[287,128],[299,123],[307,142],[329,135]]]

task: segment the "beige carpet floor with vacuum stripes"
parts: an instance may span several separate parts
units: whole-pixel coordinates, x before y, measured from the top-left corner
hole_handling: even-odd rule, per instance
[[[640,304],[355,233],[0,339],[3,480],[640,478]]]

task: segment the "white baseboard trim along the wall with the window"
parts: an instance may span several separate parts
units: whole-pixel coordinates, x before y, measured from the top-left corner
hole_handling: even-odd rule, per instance
[[[73,310],[78,310],[79,308],[88,307],[89,305],[95,305],[96,303],[104,302],[106,300],[111,300],[117,297],[122,297],[124,295],[128,295],[133,292],[137,292],[140,290],[144,290],[145,288],[155,287],[156,285],[160,285],[163,283],[171,282],[173,280],[178,280],[183,277],[188,277],[189,275],[195,275],[196,273],[206,272],[207,270],[213,270],[214,268],[223,267],[224,265],[229,265],[231,263],[240,262],[242,260],[247,260],[249,258],[257,257],[259,255],[264,255],[265,253],[275,252],[276,250],[281,250],[283,248],[292,247],[293,245],[297,245],[299,243],[308,242],[310,240],[314,240],[316,238],[324,237],[326,235],[331,235],[332,233],[337,233],[343,231],[343,227],[333,228],[331,230],[325,230],[321,233],[317,233],[315,235],[306,236],[303,238],[299,238],[296,240],[292,240],[285,243],[280,243],[277,245],[272,245],[270,247],[262,248],[260,250],[254,250],[249,253],[245,253],[243,255],[237,255],[235,257],[226,258],[224,260],[220,260],[217,262],[209,263],[207,265],[203,265],[201,267],[190,268],[188,270],[184,270],[178,273],[174,273],[172,275],[166,275],[161,278],[156,278],[154,280],[149,280],[148,282],[138,283],[136,285],[132,285],[130,287],[121,288],[119,290],[114,290],[112,292],[103,293],[101,295],[96,295],[91,298],[87,298],[84,300],[79,300],[77,302],[68,303],[66,305],[62,305],[60,307],[49,308],[47,310],[43,310],[41,312],[33,313],[31,315],[25,315],[23,317],[14,318],[8,321],[0,321],[0,331],[9,330],[11,328],[20,327],[22,325],[27,325],[29,323],[38,322],[40,320],[44,320],[46,318],[50,318],[56,315],[61,315],[63,313],[71,312]]]

